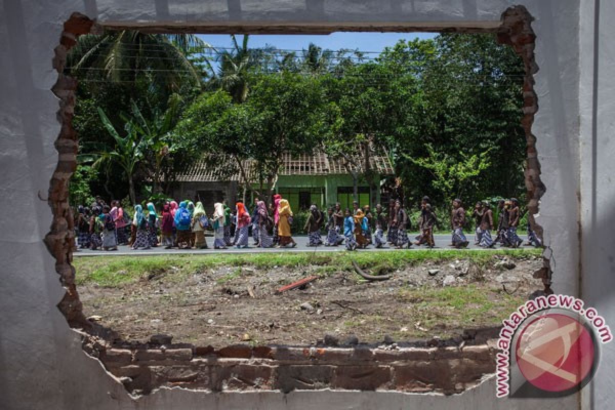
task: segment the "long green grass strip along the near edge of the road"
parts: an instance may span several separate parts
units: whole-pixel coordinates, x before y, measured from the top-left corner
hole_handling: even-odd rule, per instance
[[[330,275],[338,271],[352,271],[352,261],[374,274],[386,274],[409,264],[423,261],[465,259],[485,264],[494,255],[539,256],[539,249],[515,250],[406,250],[388,252],[276,252],[243,254],[169,254],[151,256],[81,256],[74,259],[76,283],[98,283],[100,286],[121,286],[139,280],[145,274],[154,274],[165,280],[220,266],[252,266],[256,269],[274,267],[303,267],[316,265],[319,274]],[[173,278],[173,279],[171,279]]]

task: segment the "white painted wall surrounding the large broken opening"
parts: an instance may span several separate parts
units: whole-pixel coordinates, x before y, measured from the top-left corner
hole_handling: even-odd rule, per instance
[[[311,0],[308,0],[311,1]],[[599,1],[599,0],[598,0]],[[133,401],[100,364],[85,356],[55,305],[63,290],[42,243],[51,213],[46,202],[57,162],[54,141],[57,78],[51,66],[62,23],[79,11],[111,21],[151,22],[462,22],[499,20],[524,4],[536,17],[538,137],[542,198],[538,223],[552,248],[558,293],[582,294],[615,326],[613,176],[615,4],[596,0],[342,0],[321,14],[301,0],[242,0],[228,12],[223,0],[0,0],[0,407],[6,409],[517,409],[577,408],[577,398],[507,401],[493,380],[459,396],[402,393],[294,392],[207,394],[162,390]],[[582,5],[581,11],[579,6]],[[599,42],[594,31],[599,24]],[[579,36],[581,33],[581,36]],[[579,38],[581,41],[579,41]],[[595,76],[594,58],[598,62]],[[581,159],[581,160],[580,160]],[[592,194],[592,186],[597,187]],[[580,202],[579,202],[580,201]],[[26,215],[28,218],[16,218]],[[582,243],[579,243],[579,226]],[[581,252],[582,249],[582,252]],[[580,263],[582,262],[582,264]],[[582,282],[579,281],[582,272]],[[582,285],[580,286],[580,284]],[[615,344],[614,344],[615,345]],[[598,377],[584,393],[585,408],[611,408],[615,352],[603,351]]]

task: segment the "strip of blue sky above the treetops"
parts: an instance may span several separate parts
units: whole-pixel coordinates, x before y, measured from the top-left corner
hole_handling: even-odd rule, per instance
[[[381,52],[384,47],[392,46],[400,39],[429,39],[435,33],[349,33],[339,32],[325,35],[305,34],[253,34],[248,44],[250,48],[258,49],[265,45],[273,45],[282,50],[307,49],[312,42],[323,49],[359,49],[362,52]],[[214,47],[232,47],[231,36],[228,34],[199,34],[203,41]],[[239,36],[239,44],[241,44]]]

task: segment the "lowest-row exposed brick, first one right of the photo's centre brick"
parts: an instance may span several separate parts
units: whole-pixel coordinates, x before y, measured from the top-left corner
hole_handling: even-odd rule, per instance
[[[391,387],[389,366],[337,366],[334,371],[333,388],[346,390],[376,390]]]

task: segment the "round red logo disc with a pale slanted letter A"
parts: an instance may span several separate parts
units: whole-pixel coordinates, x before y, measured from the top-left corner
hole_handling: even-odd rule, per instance
[[[565,313],[546,313],[520,329],[515,357],[523,377],[550,393],[579,390],[593,376],[598,347],[593,332]]]

